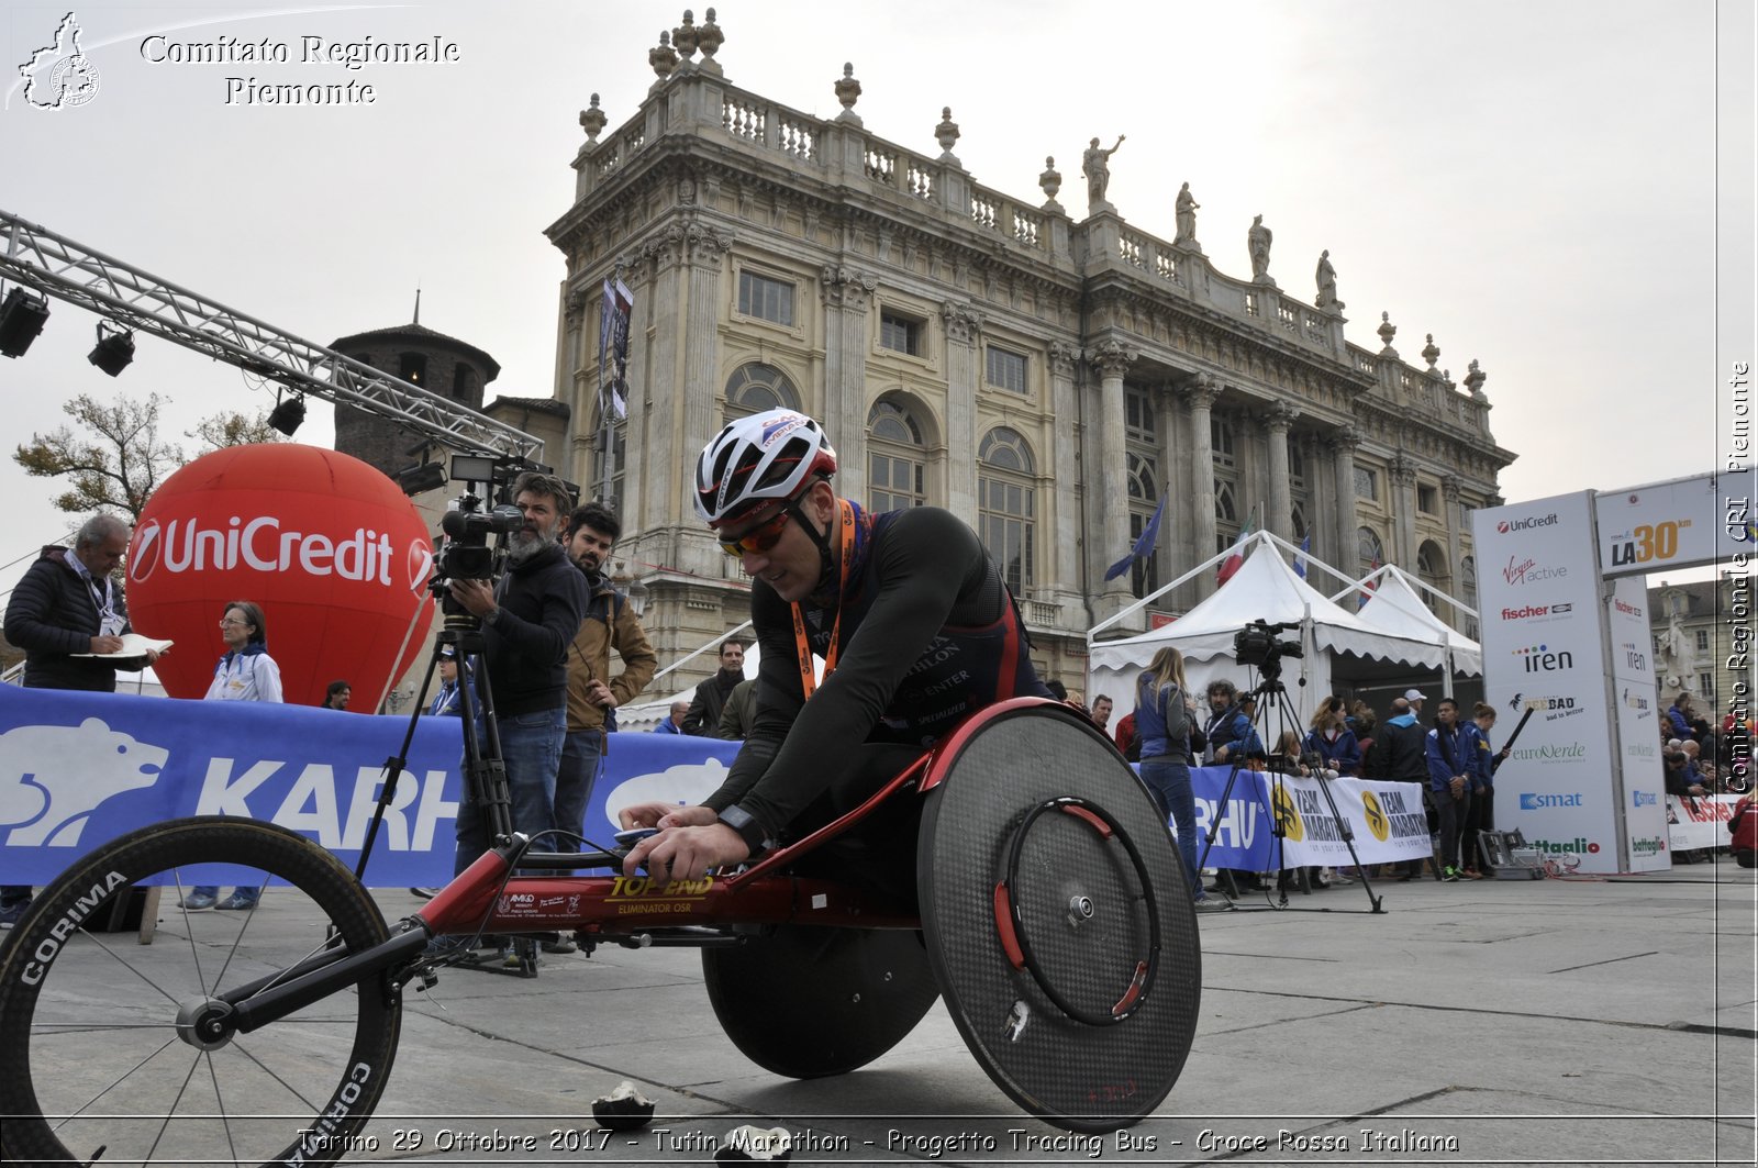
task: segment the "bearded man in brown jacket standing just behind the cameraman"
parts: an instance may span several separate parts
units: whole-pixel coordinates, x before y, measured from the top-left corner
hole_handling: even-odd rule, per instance
[[[587,603],[568,649],[568,735],[556,776],[556,827],[575,836],[585,825],[605,732],[615,730],[617,707],[645,690],[659,668],[629,598],[605,577],[605,561],[619,535],[622,524],[603,503],[577,507],[568,517],[568,556],[585,573]],[[615,677],[610,675],[612,649],[622,658],[622,672]],[[568,836],[556,841],[556,851],[575,850]]]

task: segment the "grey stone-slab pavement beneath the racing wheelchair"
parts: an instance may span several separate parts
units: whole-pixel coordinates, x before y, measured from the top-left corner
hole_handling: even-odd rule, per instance
[[[1753,876],[1723,858],[1377,881],[1380,915],[1361,885],[1290,901],[1329,911],[1204,915],[1183,1077],[1109,1136],[1021,1117],[939,1004],[870,1066],[796,1082],[721,1034],[693,950],[547,955],[534,980],[445,971],[410,994],[345,1163],[707,1164],[752,1122],[793,1131],[803,1164],[1751,1164]],[[418,904],[374,895],[389,918]],[[812,1041],[810,1017],[775,1024]],[[656,1124],[608,1135],[591,1099],[624,1078]],[[230,1163],[214,1154],[200,1163]]]

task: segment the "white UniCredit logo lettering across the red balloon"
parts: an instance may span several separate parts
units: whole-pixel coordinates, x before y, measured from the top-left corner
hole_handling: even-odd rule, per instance
[[[144,522],[134,537],[128,556],[128,580],[139,584],[160,566],[171,573],[292,572],[338,575],[345,580],[390,584],[390,535],[373,528],[355,528],[343,540],[320,531],[281,531],[276,515],[258,515],[244,522],[232,515],[225,528],[202,528],[195,519],[158,519]]]

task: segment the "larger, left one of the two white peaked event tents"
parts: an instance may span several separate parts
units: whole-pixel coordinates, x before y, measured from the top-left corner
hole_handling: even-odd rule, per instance
[[[1266,531],[1252,535],[1245,544],[1248,554],[1239,570],[1215,595],[1171,624],[1137,637],[1093,642],[1088,649],[1088,697],[1104,693],[1118,705],[1129,705],[1136,675],[1162,646],[1174,646],[1185,654],[1185,679],[1192,691],[1201,691],[1217,677],[1245,688],[1250,677],[1246,667],[1234,660],[1234,637],[1259,619],[1289,624],[1290,631],[1280,633],[1278,640],[1299,642],[1304,649],[1301,658],[1285,658],[1282,672],[1301,718],[1310,712],[1315,700],[1334,691],[1333,675],[1384,674],[1387,665],[1392,670],[1482,670],[1482,651],[1477,644],[1445,624],[1436,623],[1438,628],[1431,628],[1396,603],[1385,605],[1382,612],[1389,614],[1387,619],[1375,623],[1368,619],[1366,609],[1359,614],[1348,612],[1327,600],[1289,566],[1278,544],[1282,540]],[[1303,556],[1308,570],[1317,566],[1338,579],[1348,579],[1310,554],[1282,545]],[[1213,563],[1211,559],[1201,565],[1162,591],[1210,570]],[[1408,589],[1406,584],[1405,588]],[[1420,600],[1413,603],[1427,612]],[[1382,665],[1377,667],[1375,661]]]

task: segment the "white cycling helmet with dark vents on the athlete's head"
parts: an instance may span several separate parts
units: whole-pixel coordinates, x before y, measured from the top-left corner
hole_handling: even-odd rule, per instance
[[[696,514],[719,528],[756,503],[791,500],[837,473],[825,429],[795,410],[765,410],[716,434],[696,459]]]

